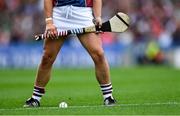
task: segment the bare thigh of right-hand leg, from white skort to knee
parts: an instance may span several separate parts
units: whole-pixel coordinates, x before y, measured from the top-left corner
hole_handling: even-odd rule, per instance
[[[81,44],[84,48],[92,55],[104,55],[104,50],[102,48],[102,41],[99,34],[88,33],[78,36]]]

